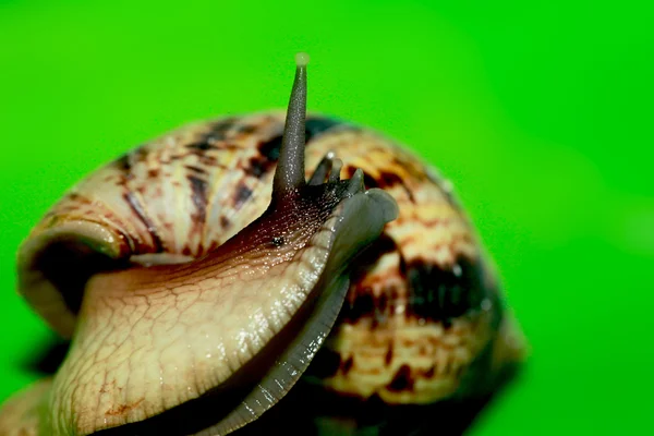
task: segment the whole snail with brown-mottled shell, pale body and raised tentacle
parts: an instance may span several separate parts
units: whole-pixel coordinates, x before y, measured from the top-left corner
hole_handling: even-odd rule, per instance
[[[286,114],[148,142],[31,232],[19,292],[71,342],[3,404],[0,435],[355,434],[355,407],[320,399],[482,398],[522,361],[449,182],[373,130],[306,114],[295,61]],[[279,419],[289,403],[323,405]]]

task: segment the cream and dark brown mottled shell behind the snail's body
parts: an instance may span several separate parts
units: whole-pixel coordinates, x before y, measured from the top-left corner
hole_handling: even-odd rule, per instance
[[[70,337],[85,281],[70,271],[184,262],[221,245],[268,205],[283,129],[282,112],[190,124],[100,168],[23,244],[20,290],[37,289],[25,298]],[[307,379],[349,397],[428,403],[473,389],[484,372],[475,365],[518,359],[520,344],[501,339],[511,328],[497,280],[449,183],[374,131],[310,114],[306,168],[328,152],[346,177],[361,168],[366,187],[390,193],[400,215],[359,258]]]

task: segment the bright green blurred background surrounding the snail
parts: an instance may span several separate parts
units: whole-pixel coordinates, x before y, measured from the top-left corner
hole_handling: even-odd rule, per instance
[[[0,0],[0,400],[50,335],[13,292],[47,207],[181,123],[283,107],[305,50],[310,109],[438,166],[501,271],[532,356],[471,434],[651,434],[651,11],[276,3]]]

